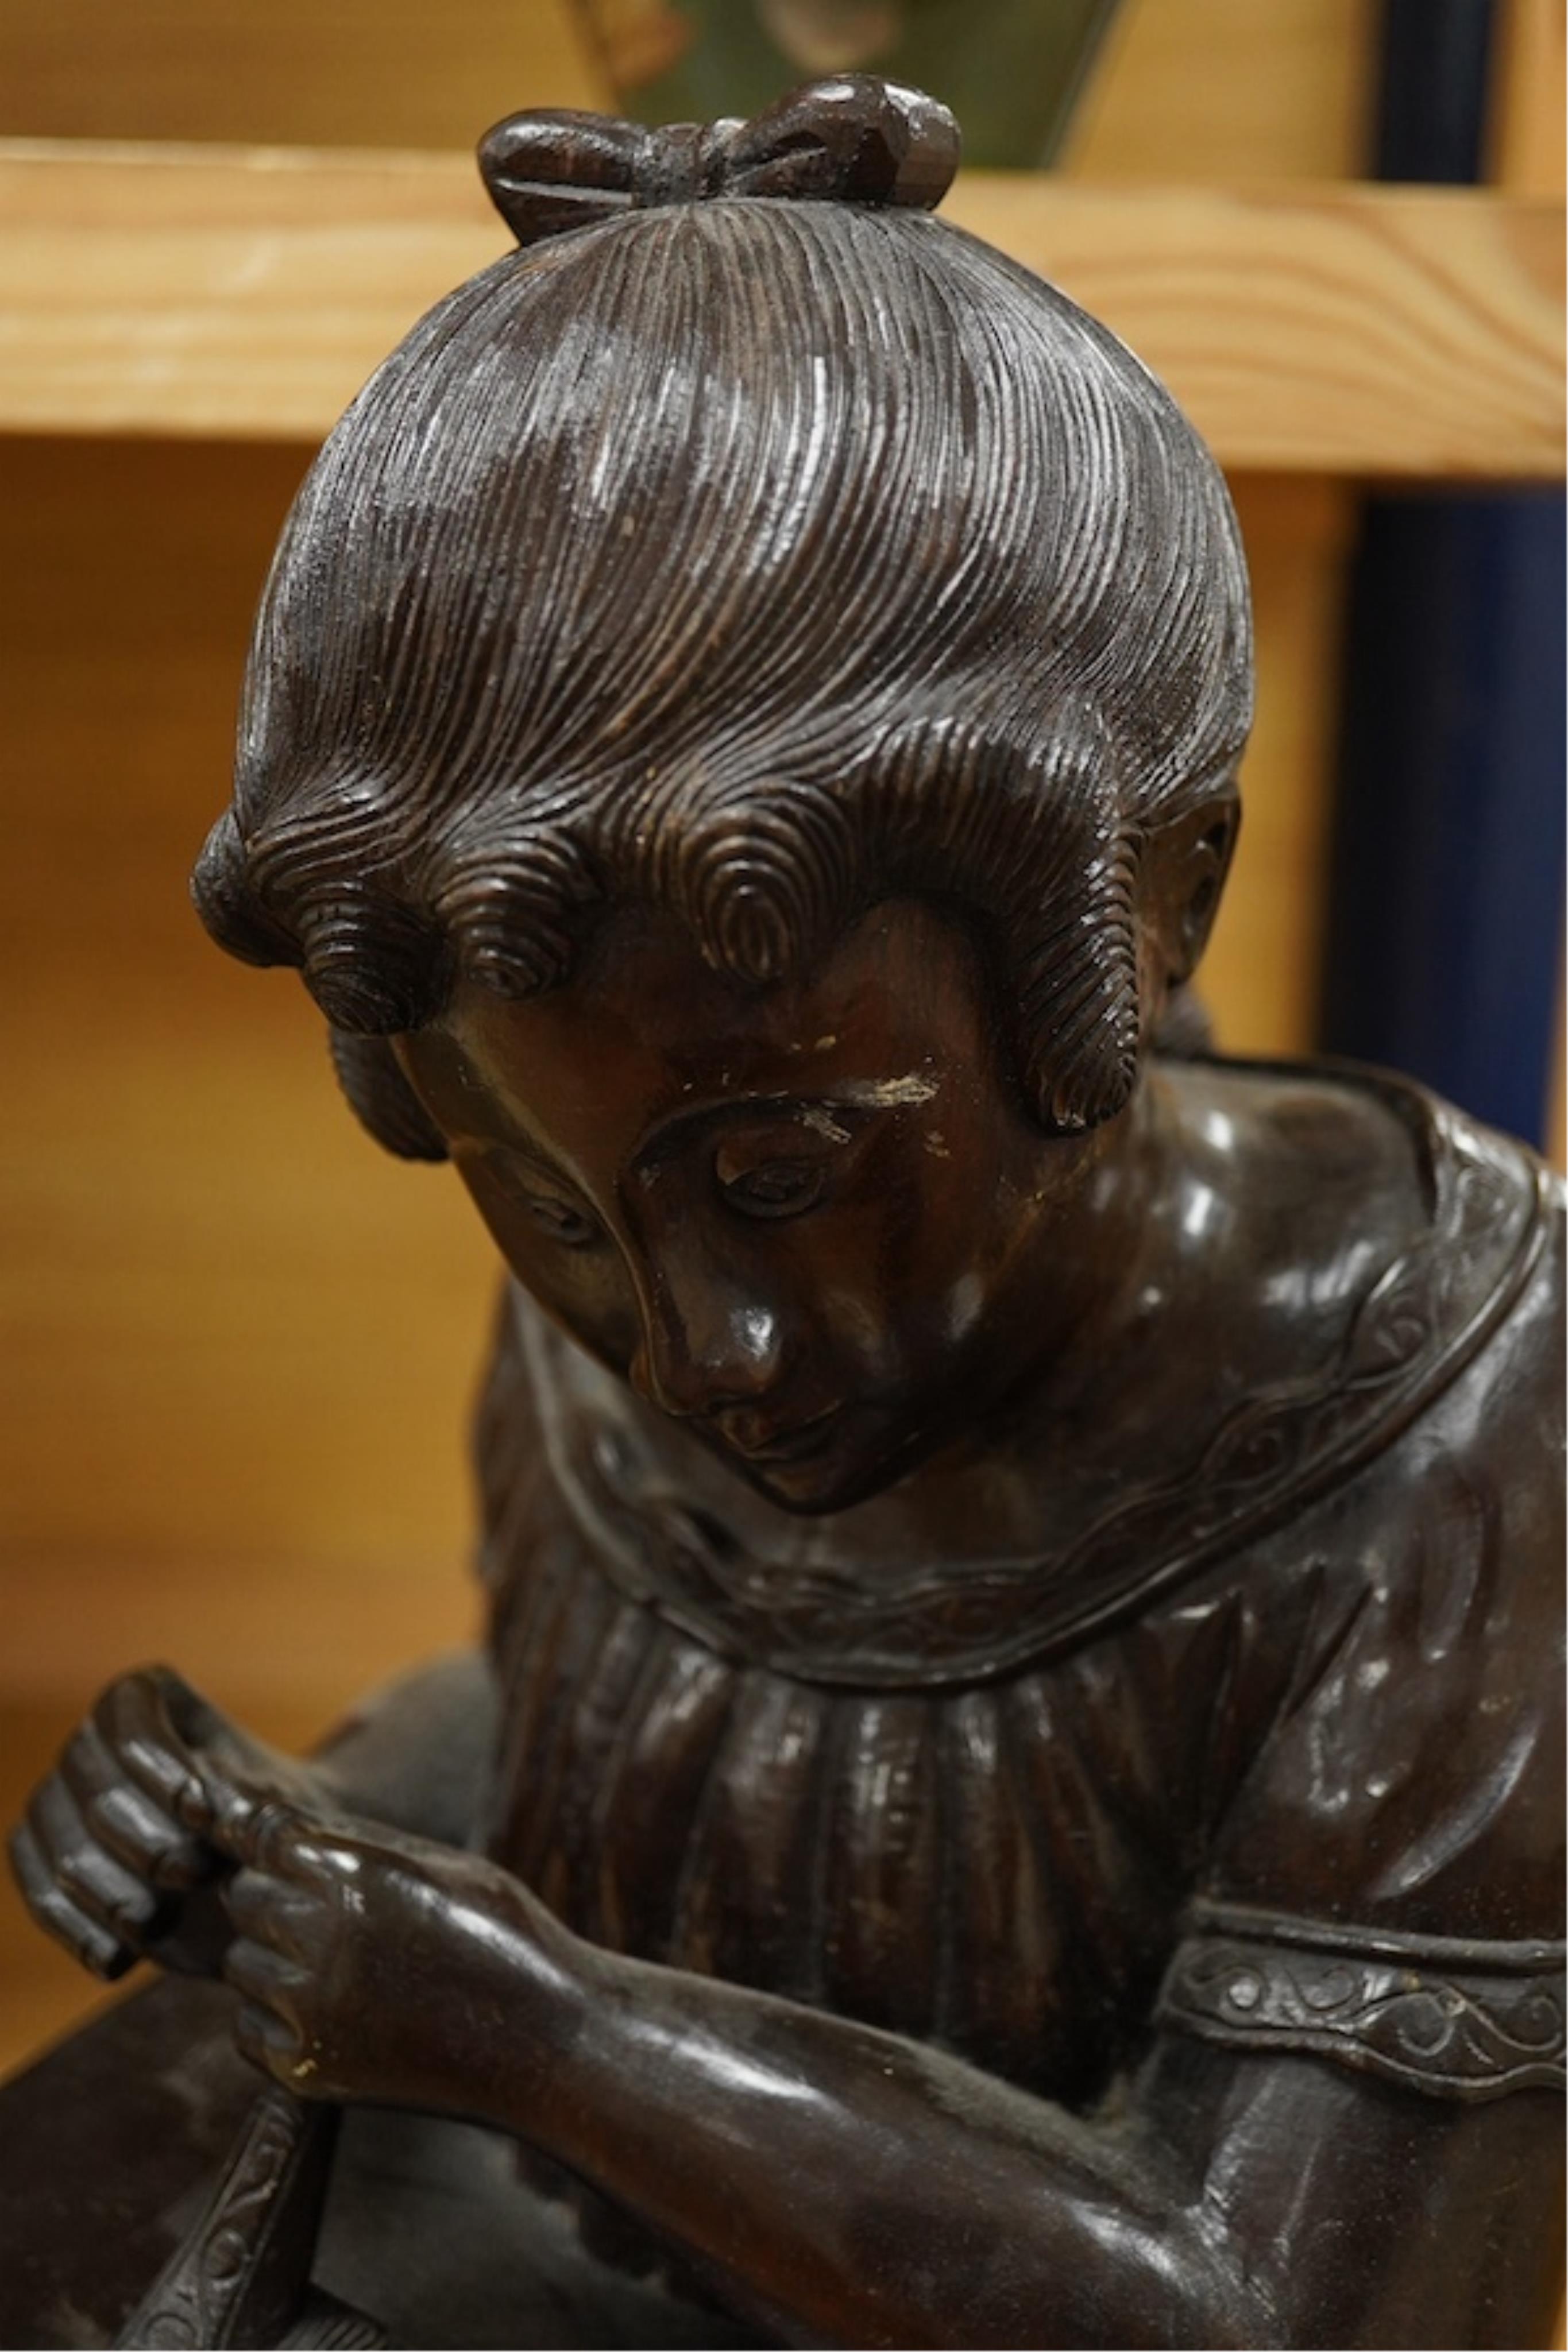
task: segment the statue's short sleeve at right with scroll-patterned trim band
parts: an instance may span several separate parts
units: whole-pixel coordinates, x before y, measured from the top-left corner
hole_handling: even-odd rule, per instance
[[[1420,1383],[1291,1531],[1316,1606],[1164,2016],[1490,2098],[1563,2063],[1563,1197],[1415,1108],[1432,1214],[1349,1352],[1389,1397]]]

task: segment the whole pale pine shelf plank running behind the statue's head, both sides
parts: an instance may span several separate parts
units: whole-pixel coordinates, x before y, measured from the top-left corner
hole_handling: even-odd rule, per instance
[[[1117,327],[1232,468],[1561,473],[1549,202],[976,172],[947,212]],[[505,247],[456,155],[21,141],[0,221],[14,430],[313,440]]]

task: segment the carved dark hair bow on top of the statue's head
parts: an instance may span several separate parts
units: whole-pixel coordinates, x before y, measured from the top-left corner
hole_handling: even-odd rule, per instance
[[[806,82],[750,122],[644,129],[541,108],[508,115],[480,141],[484,186],[520,245],[712,195],[931,212],[957,167],[959,127],[947,108],[875,73]]]

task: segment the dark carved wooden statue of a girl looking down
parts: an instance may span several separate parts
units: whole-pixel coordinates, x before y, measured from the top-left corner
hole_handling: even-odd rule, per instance
[[[491,1644],[310,1764],[132,1675],[40,1790],[40,1922],[240,1994],[12,2089],[146,2150],[101,2244],[7,2157],[49,2340],[1544,2340],[1552,1188],[1171,1051],[1234,520],[954,155],[501,125],[301,492],[197,906],[515,1277]]]

